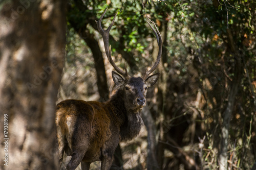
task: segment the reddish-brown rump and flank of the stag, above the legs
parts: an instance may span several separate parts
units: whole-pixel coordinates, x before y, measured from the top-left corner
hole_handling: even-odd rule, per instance
[[[89,144],[91,150],[98,150],[110,139],[112,113],[109,108],[104,103],[82,100],[65,100],[57,104],[56,124],[71,151],[73,146],[82,143]]]

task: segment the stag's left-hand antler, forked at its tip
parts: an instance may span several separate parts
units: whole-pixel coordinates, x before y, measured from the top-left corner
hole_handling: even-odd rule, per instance
[[[105,52],[106,52],[106,57],[108,57],[110,64],[114,67],[114,69],[120,74],[122,75],[125,79],[129,79],[130,76],[128,75],[127,69],[126,69],[126,65],[125,65],[125,72],[122,71],[120,68],[117,67],[117,65],[115,64],[115,62],[113,61],[112,57],[111,57],[111,46],[109,47],[109,34],[110,34],[110,30],[112,28],[112,26],[114,25],[114,21],[116,19],[117,13],[116,12],[114,19],[112,20],[110,26],[108,27],[108,29],[103,30],[101,27],[101,21],[103,19],[103,16],[105,15],[106,11],[108,10],[108,8],[106,8],[106,10],[104,11],[104,13],[100,16],[99,20],[96,21],[97,24],[97,28],[99,33],[102,35],[103,38],[103,42],[104,42],[104,47],[105,47]]]

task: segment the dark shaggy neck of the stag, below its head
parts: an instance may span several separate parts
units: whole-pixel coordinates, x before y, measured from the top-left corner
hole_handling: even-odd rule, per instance
[[[143,125],[141,118],[142,108],[135,108],[124,98],[123,91],[119,89],[110,99],[113,112],[118,117],[121,141],[131,140],[136,137]]]

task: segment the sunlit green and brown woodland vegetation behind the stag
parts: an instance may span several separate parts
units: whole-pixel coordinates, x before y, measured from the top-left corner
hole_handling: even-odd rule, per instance
[[[120,143],[113,169],[255,169],[255,1],[70,1],[58,101],[109,99],[113,67],[95,23],[107,7],[104,28],[119,10],[115,63],[135,77],[152,66],[158,46],[143,5],[163,37],[161,76],[147,92],[145,127]]]

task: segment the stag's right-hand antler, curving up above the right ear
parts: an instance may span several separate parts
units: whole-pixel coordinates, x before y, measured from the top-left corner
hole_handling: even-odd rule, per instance
[[[147,18],[147,16],[146,16],[146,18]],[[156,59],[155,64],[153,65],[153,67],[152,67],[150,70],[146,71],[146,72],[143,74],[143,76],[142,76],[143,79],[146,79],[147,76],[150,75],[150,74],[157,68],[157,66],[158,66],[158,64],[160,63],[160,60],[161,60],[162,46],[163,46],[163,45],[162,45],[162,37],[161,37],[160,32],[159,32],[158,29],[157,29],[157,26],[156,26],[155,22],[151,21],[151,22],[154,24],[156,30],[151,26],[150,22],[148,22],[148,18],[147,18],[146,21],[147,21],[148,25],[150,26],[150,28],[152,29],[152,31],[154,32],[154,34],[155,34],[155,36],[156,36],[157,44],[158,44],[159,50],[158,50],[158,55],[157,55],[157,59]]]

